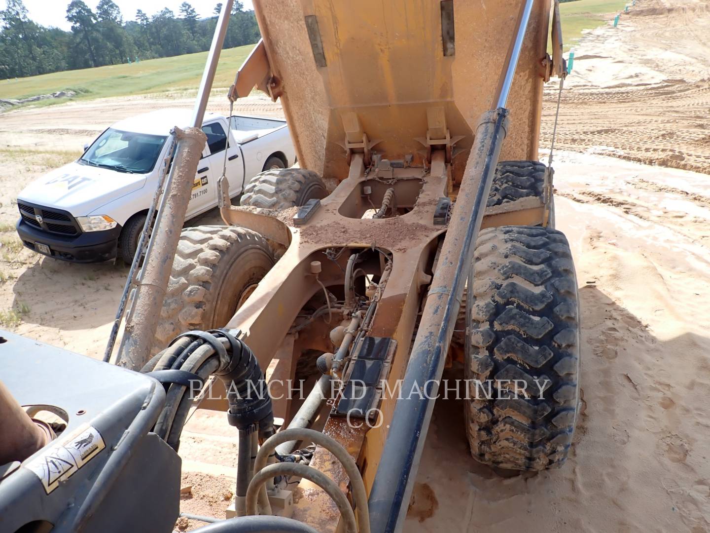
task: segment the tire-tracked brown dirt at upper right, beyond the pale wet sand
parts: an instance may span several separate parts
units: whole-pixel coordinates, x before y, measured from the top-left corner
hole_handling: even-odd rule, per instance
[[[559,114],[560,149],[710,172],[710,4],[638,0],[618,28],[577,45]],[[550,145],[557,83],[542,146]]]

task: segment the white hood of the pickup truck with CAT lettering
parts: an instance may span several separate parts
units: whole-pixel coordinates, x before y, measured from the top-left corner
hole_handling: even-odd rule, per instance
[[[18,199],[83,217],[111,200],[133,193],[145,184],[145,174],[69,163],[27,185]],[[99,213],[102,214],[107,213]]]

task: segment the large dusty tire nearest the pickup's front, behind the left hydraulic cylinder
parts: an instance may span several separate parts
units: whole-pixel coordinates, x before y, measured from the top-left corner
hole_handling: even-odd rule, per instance
[[[273,264],[266,239],[243,227],[182,230],[153,353],[187,330],[224,327]]]

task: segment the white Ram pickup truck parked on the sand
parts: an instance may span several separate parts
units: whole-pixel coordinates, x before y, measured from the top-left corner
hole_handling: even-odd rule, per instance
[[[165,170],[170,129],[187,126],[188,109],[163,109],[117,122],[73,163],[22,190],[17,232],[26,247],[56,259],[131,262],[160,173]],[[207,135],[186,219],[217,206],[217,179],[226,149],[229,195],[241,194],[253,176],[295,163],[285,121],[231,118],[208,113]],[[227,143],[229,131],[229,144]]]

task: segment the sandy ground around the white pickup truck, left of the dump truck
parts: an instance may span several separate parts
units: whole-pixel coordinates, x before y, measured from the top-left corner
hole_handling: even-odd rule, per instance
[[[227,114],[226,90],[213,90],[209,111]],[[50,107],[17,109],[0,114],[0,223],[14,224],[17,194],[34,178],[81,155],[113,122],[165,107],[192,108],[192,95],[148,95],[72,102]],[[268,97],[240,100],[234,112],[283,117],[279,104]],[[219,224],[216,210],[188,224]],[[13,239],[14,230],[4,239]],[[28,308],[16,328],[21,335],[38,338],[91,357],[104,353],[126,281],[123,264],[69,264],[45,259],[21,249],[9,252],[0,243],[0,313]],[[70,312],[67,313],[67,309]]]

